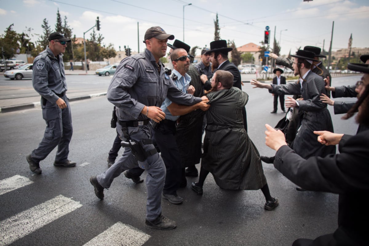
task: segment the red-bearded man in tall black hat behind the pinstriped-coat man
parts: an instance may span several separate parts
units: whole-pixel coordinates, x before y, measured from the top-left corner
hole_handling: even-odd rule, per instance
[[[215,40],[210,42],[210,50],[206,51],[205,54],[210,55],[211,67],[213,73],[217,70],[225,70],[231,72],[233,75],[233,86],[242,90],[241,73],[238,67],[228,60],[228,52],[232,51],[233,48],[227,46],[227,41],[225,40]],[[201,81],[205,84],[205,89],[211,89],[211,83],[207,76],[201,75]],[[244,127],[247,132],[247,118],[246,109],[242,109],[242,116],[244,119]]]

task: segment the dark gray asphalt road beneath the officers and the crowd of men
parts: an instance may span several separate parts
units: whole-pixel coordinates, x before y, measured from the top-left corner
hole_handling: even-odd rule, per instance
[[[80,77],[80,81],[68,86],[76,83],[89,87],[96,83],[89,79],[93,76]],[[333,83],[354,84],[359,78],[340,77]],[[274,151],[265,146],[264,124],[274,126],[284,114],[270,114],[273,97],[267,90],[252,89],[250,84],[243,89],[249,94],[248,134],[261,155],[273,155]],[[117,245],[291,245],[297,238],[316,238],[337,227],[338,195],[296,191],[296,185],[272,165],[263,164],[270,192],[280,201],[274,211],[264,210],[260,190],[222,190],[209,175],[204,195],[193,193],[190,183],[197,178],[188,178],[187,187],[178,191],[184,198],[183,204],[162,201],[163,214],[177,222],[176,229],[147,229],[144,183],[136,185],[121,175],[105,190],[103,201],[96,198],[89,183],[90,176],[107,168],[107,153],[115,138],[115,129],[110,128],[112,105],[105,97],[98,97],[73,101],[70,107],[74,132],[69,159],[76,161],[77,166],[54,167],[54,150],[41,162],[41,175],[33,174],[25,160],[44,132],[41,109],[0,114],[0,190],[4,180],[15,175],[29,182],[0,193],[0,245],[87,245],[96,238],[100,241],[90,245],[114,245],[111,238],[118,240]],[[354,119],[343,121],[342,115],[334,115],[332,107],[328,107],[335,132],[355,134]],[[61,196],[68,198],[69,210],[54,218],[58,209],[50,204]],[[47,208],[51,212],[46,213]],[[124,230],[114,234],[113,225],[123,225]],[[7,236],[14,232],[13,239],[6,238],[5,232]]]

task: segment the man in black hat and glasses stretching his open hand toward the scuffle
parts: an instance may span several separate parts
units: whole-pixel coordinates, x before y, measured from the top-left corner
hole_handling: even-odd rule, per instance
[[[310,67],[315,53],[298,50],[294,57],[294,74],[299,75],[297,83],[270,85],[252,80],[250,83],[255,87],[269,89],[273,94],[302,95],[303,100],[296,101],[292,97],[287,97],[287,107],[299,107],[301,120],[297,125],[297,134],[291,144],[293,150],[303,158],[311,156],[324,157],[336,152],[335,146],[325,146],[317,142],[317,136],[312,129],[333,132],[333,124],[327,104],[320,100],[321,94],[327,94],[324,80],[319,75],[311,72]],[[254,88],[255,88],[254,87]]]

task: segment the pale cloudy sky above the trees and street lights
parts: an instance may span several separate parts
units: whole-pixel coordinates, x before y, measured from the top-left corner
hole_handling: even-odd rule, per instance
[[[192,5],[183,7],[189,3]],[[114,44],[116,49],[128,45],[132,51],[138,50],[138,42],[139,51],[144,49],[144,34],[151,26],[159,25],[183,40],[183,8],[184,42],[190,46],[209,47],[214,39],[216,13],[220,37],[234,40],[236,46],[249,42],[259,45],[268,25],[272,37],[276,27],[282,54],[288,54],[290,49],[294,53],[305,45],[323,47],[324,40],[328,51],[333,21],[333,50],[347,48],[351,33],[353,47],[369,46],[369,1],[365,0],[0,0],[0,32],[14,23],[17,32],[32,28],[30,34],[35,41],[37,34],[42,34],[44,18],[55,27],[58,8],[76,37],[83,37],[99,16],[103,42]],[[86,38],[89,35],[86,33]]]

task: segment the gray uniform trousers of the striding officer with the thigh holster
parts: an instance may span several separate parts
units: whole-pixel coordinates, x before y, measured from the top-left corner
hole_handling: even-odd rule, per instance
[[[128,135],[132,140],[140,141],[142,139],[151,139],[151,125],[141,127],[128,127]],[[117,132],[121,139],[125,139],[121,126],[117,122]],[[126,140],[125,140],[126,141]],[[144,145],[144,149],[154,149],[153,144]],[[115,177],[118,177],[123,171],[134,167],[140,167],[147,171],[146,189],[146,219],[153,221],[161,214],[161,196],[165,181],[165,165],[162,157],[155,153],[149,156],[144,162],[138,162],[132,154],[130,148],[124,148],[123,155],[102,174],[97,176],[97,181],[104,188],[109,188]]]

